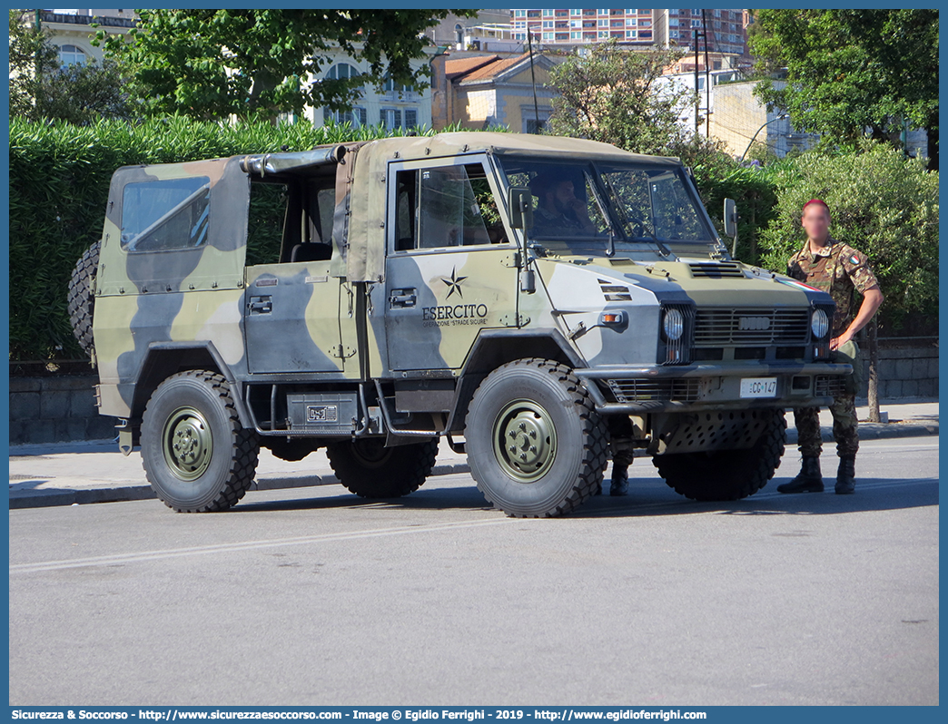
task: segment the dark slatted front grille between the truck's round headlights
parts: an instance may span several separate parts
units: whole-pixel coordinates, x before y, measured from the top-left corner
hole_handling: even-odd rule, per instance
[[[768,345],[806,343],[807,309],[699,309],[695,345]]]

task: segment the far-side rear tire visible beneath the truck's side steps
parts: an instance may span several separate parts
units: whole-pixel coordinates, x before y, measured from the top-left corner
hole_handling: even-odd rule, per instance
[[[420,488],[434,467],[438,439],[386,447],[383,438],[332,443],[326,457],[350,492],[361,498],[401,498]]]

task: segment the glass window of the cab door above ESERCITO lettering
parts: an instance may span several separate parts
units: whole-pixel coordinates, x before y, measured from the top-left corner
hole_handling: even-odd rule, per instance
[[[396,250],[506,242],[481,164],[401,171],[395,182]]]

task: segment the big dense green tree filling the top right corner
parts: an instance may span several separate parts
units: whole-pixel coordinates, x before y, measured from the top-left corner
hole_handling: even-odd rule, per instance
[[[764,75],[786,69],[786,85],[757,85],[793,126],[851,143],[871,136],[898,145],[902,122],[928,132],[938,169],[937,9],[761,9],[748,38]]]

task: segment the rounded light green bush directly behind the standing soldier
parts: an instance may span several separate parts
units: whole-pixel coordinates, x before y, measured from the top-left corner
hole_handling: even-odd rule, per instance
[[[785,271],[805,234],[800,209],[830,206],[833,238],[868,256],[885,295],[884,320],[896,328],[910,312],[939,309],[939,174],[883,143],[859,153],[803,154],[778,166],[775,218],[761,235],[764,265]]]

